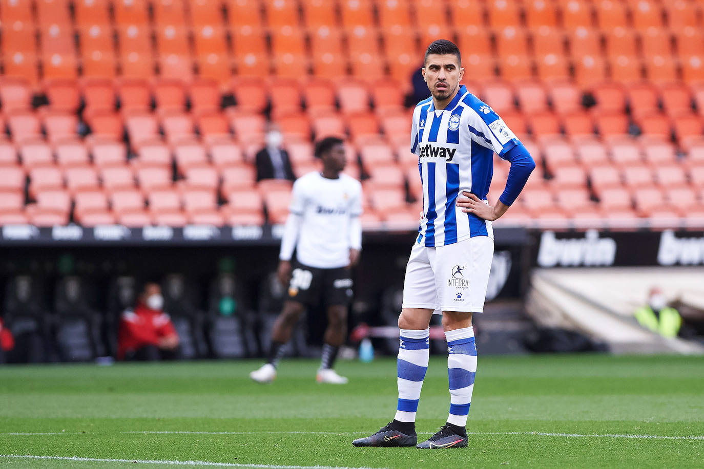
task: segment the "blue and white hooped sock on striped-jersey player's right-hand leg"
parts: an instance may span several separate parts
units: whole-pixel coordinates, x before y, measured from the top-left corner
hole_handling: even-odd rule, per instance
[[[447,368],[450,381],[450,415],[448,423],[464,427],[472,403],[474,374],[477,373],[477,347],[474,346],[474,328],[448,330]]]

